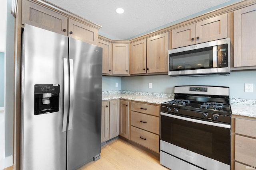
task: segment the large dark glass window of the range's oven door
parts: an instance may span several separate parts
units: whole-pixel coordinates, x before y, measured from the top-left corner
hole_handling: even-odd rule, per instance
[[[161,115],[161,140],[230,165],[230,129]]]

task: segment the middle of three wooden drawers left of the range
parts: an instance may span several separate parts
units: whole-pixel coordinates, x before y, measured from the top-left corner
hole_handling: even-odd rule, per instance
[[[146,115],[135,111],[131,112],[131,125],[156,134],[159,134],[160,132],[159,117]]]

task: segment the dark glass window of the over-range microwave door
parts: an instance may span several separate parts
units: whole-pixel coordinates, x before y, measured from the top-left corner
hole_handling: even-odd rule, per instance
[[[214,68],[213,47],[170,54],[170,71]]]

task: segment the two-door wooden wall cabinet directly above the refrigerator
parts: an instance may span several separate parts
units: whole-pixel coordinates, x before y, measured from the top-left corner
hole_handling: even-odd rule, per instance
[[[98,29],[90,23],[79,22],[68,18],[68,14],[58,11],[58,8],[43,6],[36,2],[22,0],[22,24],[30,24],[62,35],[98,44]],[[96,25],[96,24],[94,24]]]

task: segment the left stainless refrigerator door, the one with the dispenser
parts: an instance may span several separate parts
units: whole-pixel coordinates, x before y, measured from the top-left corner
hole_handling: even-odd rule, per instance
[[[26,24],[22,36],[20,169],[65,170],[67,132],[65,128],[62,132],[63,75],[64,58],[68,56],[68,37]],[[55,96],[59,99],[54,99],[59,102],[56,106],[59,111],[48,113],[43,110],[35,115],[35,84],[59,87],[59,96]],[[42,88],[42,93],[44,90]],[[51,90],[50,86],[46,90]],[[42,107],[51,106],[53,97],[53,91],[49,91],[38,97],[40,100],[45,99],[38,104]]]

